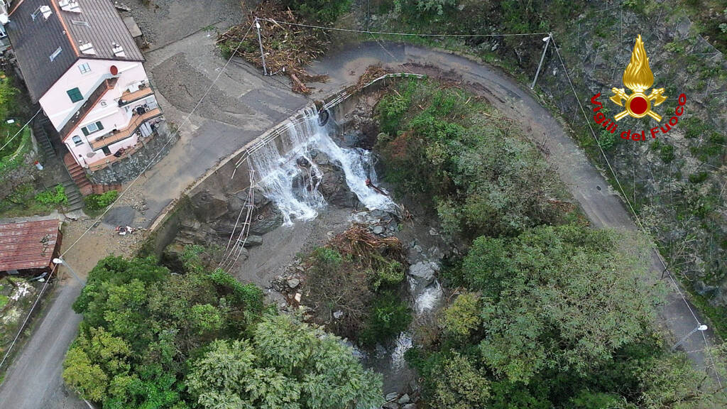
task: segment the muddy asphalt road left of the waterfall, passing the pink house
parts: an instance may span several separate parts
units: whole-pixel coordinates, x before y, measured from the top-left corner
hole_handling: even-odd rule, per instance
[[[145,202],[148,207],[140,213],[124,206],[124,217],[134,218],[134,226],[148,226],[169,202],[217,162],[308,103],[306,98],[291,92],[286,82],[263,78],[248,65],[232,63],[189,122],[185,122],[225,63],[214,51],[214,37],[208,34],[200,31],[146,55],[145,68],[156,87],[167,122],[185,126],[169,153],[125,195]],[[186,91],[179,92],[181,85]],[[235,109],[226,108],[228,105]],[[126,214],[129,212],[134,214]],[[81,277],[111,253],[108,248],[115,248],[103,241],[118,241],[119,237],[111,232],[99,234],[98,230],[105,228],[108,227],[102,225],[96,234],[84,237],[64,257]],[[76,238],[66,235],[63,250]],[[88,408],[65,389],[61,378],[65,352],[81,322],[81,316],[71,309],[80,292],[81,286],[71,279],[57,282],[44,314],[35,319],[31,338],[16,355],[0,385],[0,409]]]

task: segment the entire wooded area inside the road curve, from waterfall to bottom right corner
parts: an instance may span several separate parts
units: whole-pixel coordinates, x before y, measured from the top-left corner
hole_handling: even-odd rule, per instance
[[[507,120],[442,88],[404,84],[377,106],[385,177],[469,244],[441,277],[457,296],[417,328],[407,354],[428,407],[724,405],[655,330],[650,240],[572,223],[542,159],[501,128]]]

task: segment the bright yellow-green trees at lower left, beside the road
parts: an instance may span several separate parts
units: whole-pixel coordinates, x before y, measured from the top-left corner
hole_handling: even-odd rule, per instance
[[[153,258],[108,257],[73,304],[83,314],[64,379],[81,397],[116,408],[186,408],[188,357],[209,342],[252,333],[262,291],[185,251],[171,274]]]

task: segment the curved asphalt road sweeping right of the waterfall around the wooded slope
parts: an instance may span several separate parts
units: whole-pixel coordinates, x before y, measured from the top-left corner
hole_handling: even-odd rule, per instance
[[[596,170],[585,153],[566,134],[563,124],[534,98],[528,88],[518,84],[510,76],[502,74],[497,68],[481,65],[449,52],[385,41],[371,41],[329,54],[310,71],[330,76],[328,83],[321,84],[321,91],[325,93],[355,83],[369,65],[376,63],[382,63],[394,71],[461,81],[470,91],[489,100],[507,117],[521,122],[523,131],[534,143],[544,145],[547,161],[555,167],[559,177],[566,183],[571,195],[579,202],[593,226],[636,230],[630,210],[606,182],[601,172]],[[541,72],[541,78],[548,75],[554,74]],[[585,106],[587,101],[581,103]],[[644,279],[660,279],[664,269],[656,250],[651,255],[651,261],[652,275]],[[698,326],[692,311],[699,322],[703,321],[699,311],[683,300],[672,282],[667,281],[666,284],[668,293],[666,303],[660,311],[660,324],[671,333],[676,342]],[[705,331],[704,335],[710,341],[710,345],[714,345],[715,335],[712,330]],[[681,346],[696,368],[704,368],[710,364],[706,362],[704,345],[702,333],[696,332]]]

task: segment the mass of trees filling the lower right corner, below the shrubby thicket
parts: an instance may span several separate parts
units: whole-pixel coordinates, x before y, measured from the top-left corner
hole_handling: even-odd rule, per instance
[[[409,352],[430,408],[723,405],[654,332],[643,242],[571,225],[476,239],[453,274],[469,292],[441,314],[438,341]]]

